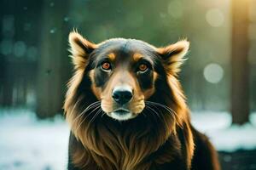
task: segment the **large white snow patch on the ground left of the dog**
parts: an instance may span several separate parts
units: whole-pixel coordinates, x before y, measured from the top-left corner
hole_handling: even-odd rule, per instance
[[[0,169],[63,170],[69,130],[59,116],[38,121],[31,111],[0,111]]]

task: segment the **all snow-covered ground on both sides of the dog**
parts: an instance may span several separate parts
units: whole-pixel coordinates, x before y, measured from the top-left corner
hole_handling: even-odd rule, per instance
[[[228,113],[196,112],[192,123],[218,150],[256,149],[256,114],[251,124],[232,126]],[[38,121],[26,110],[0,110],[0,170],[64,170],[68,126],[61,117]]]

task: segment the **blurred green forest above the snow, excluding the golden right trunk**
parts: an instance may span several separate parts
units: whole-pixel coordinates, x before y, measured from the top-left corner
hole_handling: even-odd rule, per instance
[[[191,42],[180,80],[192,111],[230,111],[231,0],[1,0],[0,107],[39,117],[61,113],[72,75],[68,33],[92,42],[110,37],[163,46]],[[250,111],[256,110],[256,1],[248,9]],[[242,113],[241,113],[242,114]]]

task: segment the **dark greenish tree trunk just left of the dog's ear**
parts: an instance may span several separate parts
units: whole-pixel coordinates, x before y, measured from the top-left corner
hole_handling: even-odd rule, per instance
[[[60,113],[63,104],[63,61],[67,56],[67,42],[64,17],[67,3],[44,0],[41,56],[38,60],[37,115],[40,118],[55,116]],[[66,71],[67,72],[67,71]]]

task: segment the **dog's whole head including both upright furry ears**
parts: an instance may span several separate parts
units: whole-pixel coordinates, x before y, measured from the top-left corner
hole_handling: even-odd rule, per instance
[[[119,121],[143,112],[145,102],[155,93],[155,82],[168,74],[175,76],[189,48],[187,41],[155,48],[123,38],[94,44],[76,32],[69,41],[75,69],[87,71],[102,111]]]

